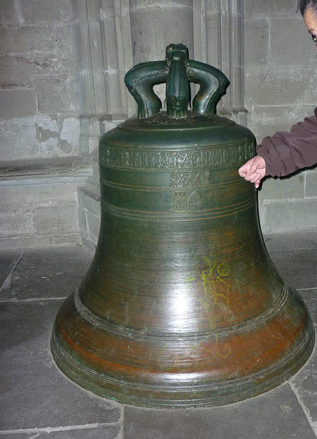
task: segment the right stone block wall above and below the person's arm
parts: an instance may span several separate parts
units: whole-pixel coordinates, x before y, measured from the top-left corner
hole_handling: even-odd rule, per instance
[[[296,0],[244,2],[245,106],[257,141],[314,115],[316,45]],[[317,227],[317,169],[268,178],[259,190],[264,233]]]

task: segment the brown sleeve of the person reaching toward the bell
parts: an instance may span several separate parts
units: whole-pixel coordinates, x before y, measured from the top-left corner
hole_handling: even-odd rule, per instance
[[[315,115],[292,126],[290,132],[277,132],[257,145],[257,154],[266,163],[266,175],[287,176],[297,169],[317,163],[317,108]]]

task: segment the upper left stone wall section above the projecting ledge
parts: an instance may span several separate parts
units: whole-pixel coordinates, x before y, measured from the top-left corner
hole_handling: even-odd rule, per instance
[[[1,161],[79,155],[71,11],[42,3],[1,1]]]

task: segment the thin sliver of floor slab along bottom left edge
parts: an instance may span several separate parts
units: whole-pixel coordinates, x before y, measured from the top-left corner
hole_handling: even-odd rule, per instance
[[[67,429],[60,431],[23,431],[20,433],[3,434],[1,439],[119,439],[121,427],[107,425],[106,427]]]

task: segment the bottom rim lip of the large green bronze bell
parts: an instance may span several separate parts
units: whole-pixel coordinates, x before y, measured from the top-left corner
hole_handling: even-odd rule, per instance
[[[214,407],[237,403],[268,392],[299,372],[309,360],[316,341],[314,324],[310,316],[308,319],[307,333],[295,352],[291,351],[288,357],[284,357],[281,361],[259,372],[223,381],[206,379],[203,383],[197,384],[189,379],[188,382],[180,380],[178,385],[164,383],[164,385],[157,386],[157,384],[143,385],[99,374],[95,370],[82,366],[64,351],[58,342],[55,329],[51,335],[51,354],[55,364],[68,379],[80,385],[81,388],[118,403],[149,408]],[[274,375],[274,370],[278,368],[279,363],[283,363],[284,367],[277,375]],[[190,384],[189,381],[191,381]]]

